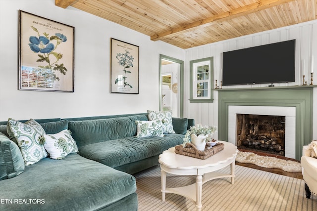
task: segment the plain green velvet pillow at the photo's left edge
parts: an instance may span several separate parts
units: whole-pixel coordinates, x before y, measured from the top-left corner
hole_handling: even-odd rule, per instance
[[[24,171],[19,147],[0,132],[0,180],[15,177]]]

